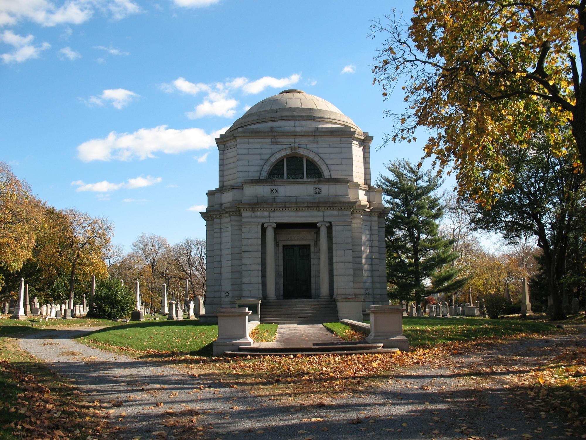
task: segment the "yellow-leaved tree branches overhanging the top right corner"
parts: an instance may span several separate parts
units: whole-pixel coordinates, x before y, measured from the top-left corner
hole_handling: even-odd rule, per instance
[[[428,128],[425,156],[453,164],[460,190],[485,203],[514,176],[506,145],[537,128],[553,153],[570,141],[586,164],[586,0],[415,0],[411,23],[386,18],[372,25],[385,38],[373,83],[384,100],[402,86],[406,102],[386,111],[386,143]]]

